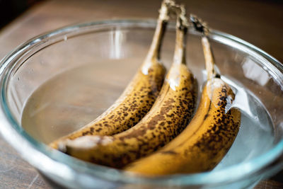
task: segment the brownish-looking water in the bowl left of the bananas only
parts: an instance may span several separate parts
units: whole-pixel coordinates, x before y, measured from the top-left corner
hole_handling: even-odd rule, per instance
[[[46,81],[25,103],[23,128],[48,144],[91,122],[114,103],[134,76],[138,65],[128,61],[84,64]]]

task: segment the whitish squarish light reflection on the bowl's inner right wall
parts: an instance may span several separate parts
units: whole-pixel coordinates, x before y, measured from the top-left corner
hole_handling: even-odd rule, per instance
[[[251,79],[261,86],[267,84],[267,81],[270,79],[267,71],[262,69],[258,64],[256,64],[252,59],[246,58],[242,63],[243,74],[246,78]]]

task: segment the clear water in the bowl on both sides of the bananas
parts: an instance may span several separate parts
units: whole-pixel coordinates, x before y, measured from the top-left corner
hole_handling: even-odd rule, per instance
[[[120,96],[137,70],[134,64],[119,59],[111,65],[103,65],[85,64],[65,71],[37,88],[25,103],[23,128],[35,139],[48,144],[103,113]],[[122,69],[125,65],[127,72]],[[109,66],[114,67],[114,72],[103,75]],[[274,140],[272,122],[262,104],[240,84],[227,78],[224,80],[236,93],[233,105],[241,109],[241,128],[233,146],[214,170],[263,154],[272,147]]]

